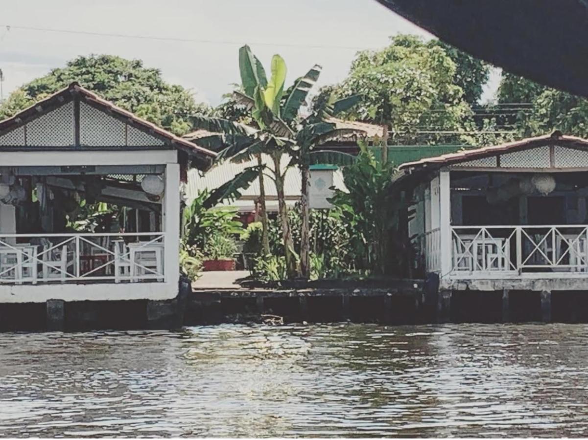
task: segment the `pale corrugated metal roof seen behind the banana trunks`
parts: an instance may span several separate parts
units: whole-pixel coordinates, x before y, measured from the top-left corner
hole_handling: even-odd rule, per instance
[[[262,162],[269,167],[273,167],[273,162],[267,154],[262,154]],[[286,166],[290,162],[290,157],[284,155],[282,157],[282,171],[286,169]],[[189,170],[188,172],[188,184],[186,184],[185,192],[186,192],[186,201],[190,203],[195,197],[198,195],[199,191],[203,189],[213,190],[218,188],[220,185],[229,182],[232,180],[237,174],[243,171],[246,167],[255,166],[257,164],[256,159],[252,159],[248,162],[244,163],[233,163],[230,161],[223,162],[212,167],[208,172],[206,172],[203,176],[198,172],[198,170]],[[266,171],[266,174],[271,174]],[[273,183],[273,180],[269,177],[263,179],[263,184],[265,188],[266,197],[269,199],[275,199],[278,196],[278,192],[276,192],[276,185]],[[335,170],[333,172],[333,184],[336,188],[345,190],[345,184],[343,184],[343,175],[341,170]],[[298,200],[300,197],[300,192],[302,190],[302,179],[300,177],[300,172],[296,167],[290,167],[286,172],[286,178],[284,181],[284,195],[287,199],[296,199]],[[243,206],[243,204],[248,205],[251,209],[255,207],[255,200],[259,198],[259,180],[256,179],[248,189],[242,190],[241,197],[237,202],[233,203],[225,203],[228,206]],[[247,201],[248,203],[245,203]],[[276,205],[277,206],[277,205]],[[268,203],[268,210],[270,210],[270,206]]]

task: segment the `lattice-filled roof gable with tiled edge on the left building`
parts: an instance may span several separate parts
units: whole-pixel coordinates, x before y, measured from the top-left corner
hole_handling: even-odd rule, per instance
[[[216,156],[77,83],[0,122],[0,150],[35,147],[178,148],[205,167]]]

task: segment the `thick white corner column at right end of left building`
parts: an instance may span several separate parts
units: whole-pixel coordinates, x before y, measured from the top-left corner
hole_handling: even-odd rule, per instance
[[[178,288],[180,244],[180,166],[168,163],[165,167],[165,195],[163,197],[163,232],[165,233],[165,282]]]

